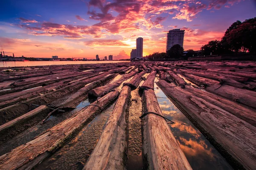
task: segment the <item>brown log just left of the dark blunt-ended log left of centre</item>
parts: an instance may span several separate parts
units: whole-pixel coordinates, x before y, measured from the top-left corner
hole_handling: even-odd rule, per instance
[[[67,100],[62,102],[58,107],[76,107],[77,104],[79,104],[82,100],[86,99],[88,96],[88,92],[93,89],[100,86],[103,86],[107,84],[111,79],[116,77],[116,74],[111,74],[107,77],[103,77],[102,79],[99,79],[97,81],[92,82],[89,85],[86,85],[84,88],[81,88],[79,91],[77,91],[75,94],[70,96]]]

